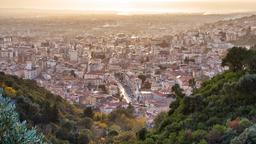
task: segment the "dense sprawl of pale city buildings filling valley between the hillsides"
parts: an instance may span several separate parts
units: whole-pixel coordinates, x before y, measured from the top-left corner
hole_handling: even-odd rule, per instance
[[[228,69],[221,66],[228,49],[243,37],[256,35],[255,16],[192,23],[179,25],[183,31],[149,23],[152,31],[134,34],[116,31],[122,23],[108,21],[91,27],[89,33],[70,35],[68,30],[2,27],[0,71],[35,80],[71,103],[106,114],[132,104],[136,116],[146,117],[151,126],[175,100],[175,84],[191,95],[204,80]]]

